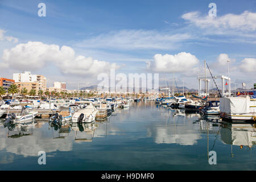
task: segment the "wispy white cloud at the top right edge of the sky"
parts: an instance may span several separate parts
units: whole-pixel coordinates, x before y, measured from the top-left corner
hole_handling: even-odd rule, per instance
[[[256,13],[250,11],[244,11],[240,15],[226,14],[216,17],[209,15],[201,16],[198,11],[193,11],[182,15],[181,18],[200,28],[215,28],[215,31],[217,31],[216,28],[248,32],[256,30]]]

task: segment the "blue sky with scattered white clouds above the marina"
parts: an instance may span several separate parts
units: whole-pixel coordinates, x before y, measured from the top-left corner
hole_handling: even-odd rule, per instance
[[[113,68],[197,89],[204,60],[225,76],[229,60],[232,88],[256,83],[256,1],[1,0],[0,22],[1,77],[30,71],[76,89]]]

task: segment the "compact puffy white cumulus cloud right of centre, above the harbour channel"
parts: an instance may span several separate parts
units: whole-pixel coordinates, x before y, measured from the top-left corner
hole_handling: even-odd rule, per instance
[[[191,53],[180,52],[177,55],[156,54],[147,68],[155,72],[188,72],[195,67],[199,60]]]

